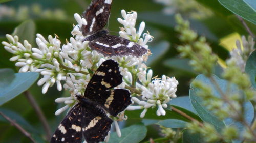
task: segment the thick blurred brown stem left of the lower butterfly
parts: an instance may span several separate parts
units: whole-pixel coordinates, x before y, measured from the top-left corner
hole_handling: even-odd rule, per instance
[[[29,100],[32,107],[35,109],[35,112],[38,115],[38,118],[41,121],[42,126],[44,127],[44,130],[46,132],[46,138],[47,138],[48,141],[50,141],[50,139],[51,139],[51,129],[50,129],[49,124],[47,123],[47,120],[46,120],[46,117],[45,117],[44,113],[42,112],[42,110],[40,109],[40,107],[38,106],[38,104],[36,103],[34,97],[31,95],[30,92],[25,91],[24,94],[27,97],[27,99]]]

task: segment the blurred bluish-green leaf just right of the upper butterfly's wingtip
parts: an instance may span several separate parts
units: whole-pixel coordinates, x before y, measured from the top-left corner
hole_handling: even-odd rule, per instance
[[[152,62],[160,58],[163,54],[165,54],[168,51],[169,46],[170,44],[167,41],[162,41],[157,43],[156,45],[153,45],[150,48],[152,55],[148,57],[146,64],[150,65]]]

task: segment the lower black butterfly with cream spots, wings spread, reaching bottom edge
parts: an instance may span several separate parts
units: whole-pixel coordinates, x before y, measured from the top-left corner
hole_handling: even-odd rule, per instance
[[[61,121],[51,143],[88,143],[104,141],[108,135],[112,116],[117,116],[131,102],[126,89],[113,89],[122,83],[119,65],[113,60],[104,61],[89,81],[84,96],[77,95],[78,103]]]

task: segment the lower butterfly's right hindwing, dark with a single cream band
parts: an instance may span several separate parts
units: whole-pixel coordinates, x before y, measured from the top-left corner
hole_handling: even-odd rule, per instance
[[[100,93],[96,97],[98,99],[96,102],[112,116],[117,116],[132,103],[130,95],[131,93],[126,89],[108,90]]]

